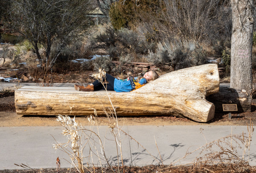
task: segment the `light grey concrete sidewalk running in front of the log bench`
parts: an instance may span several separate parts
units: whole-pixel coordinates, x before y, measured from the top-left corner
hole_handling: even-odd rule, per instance
[[[84,127],[89,129],[90,127]],[[93,129],[97,132],[96,127]],[[129,138],[124,133],[122,138],[122,155],[125,165],[144,166],[148,164],[159,164],[161,159],[163,163],[168,165],[187,164],[193,162],[195,157],[199,157],[200,151],[203,154],[213,151],[206,150],[204,147],[194,153],[191,153],[184,159],[181,159],[188,152],[192,152],[198,147],[204,146],[208,142],[221,139],[231,133],[233,135],[247,133],[247,126],[124,126],[122,127],[127,134],[132,136]],[[67,136],[61,134],[61,127],[0,127],[0,170],[4,169],[20,169],[15,164],[27,164],[32,168],[52,168],[56,167],[56,158],[61,159],[61,167],[70,167],[70,158],[66,153],[52,148],[55,140],[58,142],[66,142]],[[87,132],[89,135],[89,133]],[[105,154],[109,162],[113,165],[117,164],[116,143],[114,137],[107,126],[99,126],[99,135],[105,147]],[[87,136],[88,137],[88,136]],[[99,139],[95,135],[90,136],[91,139],[84,148],[84,165],[100,166],[100,162],[96,153],[98,151],[100,161],[103,165],[106,162],[101,154],[99,147]],[[252,137],[250,145],[250,165],[256,165],[256,142],[255,134]],[[136,141],[134,141],[134,139]],[[233,137],[235,139],[235,137]],[[221,139],[222,147],[230,149],[228,145],[232,145],[238,150],[236,153],[240,158],[243,154],[243,146],[239,143],[227,138],[225,141]],[[239,140],[237,140],[239,141]],[[226,142],[226,143],[225,143]],[[156,144],[157,143],[157,146]],[[90,145],[90,146],[89,146]],[[144,147],[141,147],[141,145]],[[239,149],[239,146],[242,148]],[[158,150],[161,155],[161,159]],[[95,153],[92,153],[90,149]],[[97,148],[97,151],[95,150]],[[145,150],[146,149],[146,150]],[[220,151],[217,145],[213,145],[210,149]],[[248,150],[246,150],[245,159],[248,159]],[[120,161],[120,151],[119,163]],[[234,151],[235,153],[235,151]],[[88,157],[93,155],[93,159]],[[151,156],[152,155],[152,156]],[[66,161],[66,160],[67,161]],[[181,159],[179,161],[179,159]]]

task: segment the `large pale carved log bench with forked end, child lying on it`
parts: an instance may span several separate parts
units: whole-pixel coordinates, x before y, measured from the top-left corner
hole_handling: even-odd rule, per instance
[[[90,115],[93,109],[105,115],[112,102],[117,116],[173,115],[207,122],[215,106],[205,98],[218,91],[218,67],[207,64],[164,74],[132,92],[26,86],[15,91],[15,106],[20,115]]]

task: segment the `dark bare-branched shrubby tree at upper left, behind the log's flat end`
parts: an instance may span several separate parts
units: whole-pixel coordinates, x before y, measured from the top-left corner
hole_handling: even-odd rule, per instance
[[[9,27],[32,43],[39,63],[49,69],[65,46],[86,31],[91,10],[90,0],[12,0]]]

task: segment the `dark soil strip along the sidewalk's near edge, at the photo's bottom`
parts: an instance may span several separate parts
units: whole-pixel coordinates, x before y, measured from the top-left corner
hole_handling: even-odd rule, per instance
[[[155,166],[148,165],[145,167],[113,167],[113,171],[110,168],[89,167],[84,168],[85,173],[255,173],[256,167],[250,167],[247,165],[225,164],[219,165],[192,165],[192,166],[179,166],[179,167],[167,167],[167,166]],[[0,170],[0,173],[58,173],[56,169],[29,169],[29,170]],[[59,173],[79,173],[76,169],[62,168]]]

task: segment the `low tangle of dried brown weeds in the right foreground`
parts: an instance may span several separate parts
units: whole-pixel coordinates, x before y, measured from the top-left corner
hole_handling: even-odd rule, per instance
[[[201,129],[201,133],[202,133]],[[241,134],[230,134],[229,136],[222,137],[220,139],[214,140],[212,142],[206,142],[205,145],[196,148],[192,151],[187,151],[185,156],[173,162],[169,167],[165,167],[162,170],[179,167],[183,165],[192,165],[194,167],[201,167],[202,169],[207,170],[207,165],[222,165],[224,167],[229,167],[230,170],[236,171],[238,168],[246,168],[249,166],[250,158],[250,143],[252,141],[253,135],[253,123],[250,122],[250,125],[247,125],[248,136],[243,132]],[[248,149],[248,160],[246,161],[244,155]],[[242,155],[241,155],[242,151]],[[187,156],[192,153],[198,153],[198,156],[195,157],[194,161],[187,164],[175,165],[180,160],[185,159]],[[211,172],[210,170],[208,170]]]

